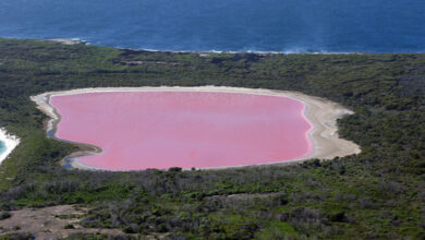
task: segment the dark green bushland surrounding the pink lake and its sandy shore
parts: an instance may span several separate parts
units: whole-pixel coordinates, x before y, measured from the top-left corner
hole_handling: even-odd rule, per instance
[[[326,97],[355,111],[338,123],[362,154],[216,171],[60,167],[76,147],[46,137],[47,117],[29,96],[145,85]],[[424,96],[425,55],[198,55],[0,39],[0,125],[22,139],[0,168],[0,208],[87,204],[85,227],[168,239],[424,239]]]

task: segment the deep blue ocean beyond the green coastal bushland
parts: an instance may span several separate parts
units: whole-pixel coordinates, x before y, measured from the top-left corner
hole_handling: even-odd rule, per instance
[[[425,0],[0,0],[0,37],[157,50],[424,52]]]

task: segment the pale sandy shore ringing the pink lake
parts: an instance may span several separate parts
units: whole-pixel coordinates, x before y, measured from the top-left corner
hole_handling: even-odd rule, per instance
[[[270,164],[288,164],[294,161],[301,161],[312,158],[319,159],[332,159],[333,157],[343,157],[352,154],[359,154],[361,148],[353,142],[340,139],[338,135],[337,119],[343,116],[353,113],[349,109],[331,103],[324,98],[308,96],[299,92],[292,91],[271,91],[263,88],[242,88],[242,87],[227,87],[227,86],[198,86],[198,87],[180,87],[180,86],[161,86],[161,87],[99,87],[99,88],[80,88],[62,92],[48,92],[32,96],[31,99],[37,104],[37,108],[45,112],[50,119],[47,122],[46,131],[49,137],[73,143],[82,147],[82,151],[75,152],[70,156],[66,156],[62,160],[62,165],[70,165],[72,168],[87,169],[87,170],[105,170],[97,169],[89,166],[85,166],[76,159],[81,156],[87,156],[93,154],[100,154],[102,149],[97,146],[70,142],[54,136],[57,124],[60,122],[60,115],[56,111],[54,107],[50,105],[51,96],[64,96],[75,94],[88,94],[88,93],[105,93],[105,92],[222,92],[222,93],[240,93],[240,94],[254,94],[254,95],[267,95],[267,96],[280,96],[296,99],[304,104],[304,118],[313,125],[308,131],[307,137],[309,137],[313,144],[313,149],[307,156],[303,156],[298,159],[269,163]],[[264,164],[260,164],[264,165]],[[226,166],[215,168],[203,169],[222,169],[230,167],[244,167],[244,166]]]

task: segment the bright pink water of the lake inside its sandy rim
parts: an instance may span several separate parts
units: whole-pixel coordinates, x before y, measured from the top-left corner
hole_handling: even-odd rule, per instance
[[[212,92],[53,96],[56,136],[100,147],[78,161],[108,170],[206,168],[286,161],[312,153],[304,104]]]

